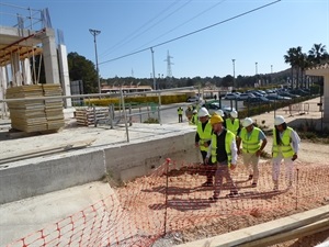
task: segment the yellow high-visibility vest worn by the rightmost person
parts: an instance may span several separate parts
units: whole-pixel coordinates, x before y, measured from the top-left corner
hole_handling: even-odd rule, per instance
[[[276,143],[276,131],[275,128],[273,128],[273,147],[272,147],[272,153],[273,153],[273,157],[275,158],[279,154],[279,151],[281,150],[282,156],[284,158],[287,157],[293,157],[294,156],[294,150],[292,147],[292,138],[291,138],[291,134],[294,130],[291,127],[287,127],[282,135],[281,145],[277,145]]]

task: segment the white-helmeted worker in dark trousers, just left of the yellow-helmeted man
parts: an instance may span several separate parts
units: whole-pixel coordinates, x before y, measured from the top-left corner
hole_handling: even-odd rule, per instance
[[[212,138],[212,124],[209,122],[209,113],[206,108],[201,108],[197,113],[198,123],[195,134],[195,147],[200,148],[203,165],[206,166],[206,177],[207,180],[202,184],[203,187],[213,187],[213,177],[215,173],[212,162],[205,164],[205,158],[207,156],[208,147],[211,145]]]

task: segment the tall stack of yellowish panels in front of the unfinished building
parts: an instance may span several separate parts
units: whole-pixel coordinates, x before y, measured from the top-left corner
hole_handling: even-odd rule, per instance
[[[59,85],[29,85],[7,89],[7,99],[31,99],[8,102],[12,128],[26,133],[58,131],[64,126],[61,99],[37,98],[61,96]]]

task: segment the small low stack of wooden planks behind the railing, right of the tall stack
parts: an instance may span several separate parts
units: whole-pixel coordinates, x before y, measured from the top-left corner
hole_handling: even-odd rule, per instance
[[[109,109],[107,108],[77,108],[76,109],[76,119],[78,125],[93,125],[97,120],[106,120],[109,119]]]

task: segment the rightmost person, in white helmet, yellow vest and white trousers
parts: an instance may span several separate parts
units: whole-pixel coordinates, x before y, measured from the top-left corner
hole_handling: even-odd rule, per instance
[[[287,189],[293,186],[294,178],[294,160],[298,158],[300,138],[298,134],[288,127],[284,117],[277,115],[274,119],[273,128],[273,146],[272,146],[272,179],[274,183],[273,190],[279,190],[279,177],[280,177],[280,166],[282,159],[285,165],[285,178],[287,181]]]

